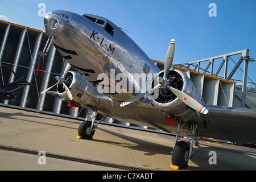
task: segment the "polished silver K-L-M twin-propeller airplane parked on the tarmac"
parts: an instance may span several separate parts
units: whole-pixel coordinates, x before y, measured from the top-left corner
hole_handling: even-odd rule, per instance
[[[94,135],[98,113],[123,122],[155,127],[176,134],[172,164],[187,167],[198,138],[236,142],[256,141],[256,110],[206,105],[192,81],[171,68],[175,40],[167,51],[164,71],[110,20],[101,16],[49,11],[43,19],[49,39],[39,55],[53,44],[67,60],[63,76],[56,77],[52,94],[72,106],[89,107],[78,133]],[[70,71],[70,68],[75,71]],[[188,142],[179,141],[187,137]]]

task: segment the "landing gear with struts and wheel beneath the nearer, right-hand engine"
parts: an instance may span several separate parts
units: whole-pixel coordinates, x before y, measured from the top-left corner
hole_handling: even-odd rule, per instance
[[[190,121],[191,131],[192,135],[189,135],[187,133],[181,133],[181,129],[185,125],[186,122],[183,123],[182,126],[178,126],[175,142],[174,142],[174,150],[172,151],[172,164],[175,166],[179,166],[180,168],[185,168],[188,166],[188,159],[193,157],[193,144],[195,143],[196,146],[200,148],[200,151],[202,152],[202,148],[199,146],[199,142],[196,139],[196,128],[197,123],[194,121]],[[188,142],[185,141],[179,141],[180,138],[183,137],[188,138]]]

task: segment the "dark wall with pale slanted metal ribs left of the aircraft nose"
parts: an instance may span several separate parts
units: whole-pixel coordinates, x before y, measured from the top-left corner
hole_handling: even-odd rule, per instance
[[[1,36],[1,84],[15,81],[11,68],[19,77],[25,77],[33,86],[26,86],[16,94],[15,100],[1,101],[3,104],[27,107],[36,110],[53,111],[56,100],[40,91],[48,85],[55,84],[55,76],[62,75],[65,65],[56,49],[52,46],[47,57],[41,58],[39,74],[36,71],[39,64],[38,51],[44,48],[47,36],[41,31],[31,30],[26,27],[0,22]],[[51,104],[49,104],[49,102]],[[48,103],[48,105],[47,105]],[[62,108],[60,113],[67,113],[68,107]]]

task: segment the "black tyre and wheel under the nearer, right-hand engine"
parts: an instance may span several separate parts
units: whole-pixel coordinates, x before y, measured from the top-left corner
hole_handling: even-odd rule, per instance
[[[185,141],[177,142],[172,151],[172,164],[185,168],[188,166],[189,146]]]

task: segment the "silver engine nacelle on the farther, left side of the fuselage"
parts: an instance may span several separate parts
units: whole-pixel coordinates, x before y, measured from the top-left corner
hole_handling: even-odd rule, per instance
[[[96,106],[98,90],[89,81],[82,77],[79,73],[69,71],[65,76],[65,84],[68,86],[74,102],[77,104],[85,104]],[[67,92],[62,84],[57,85],[57,93],[60,97],[69,99]]]

